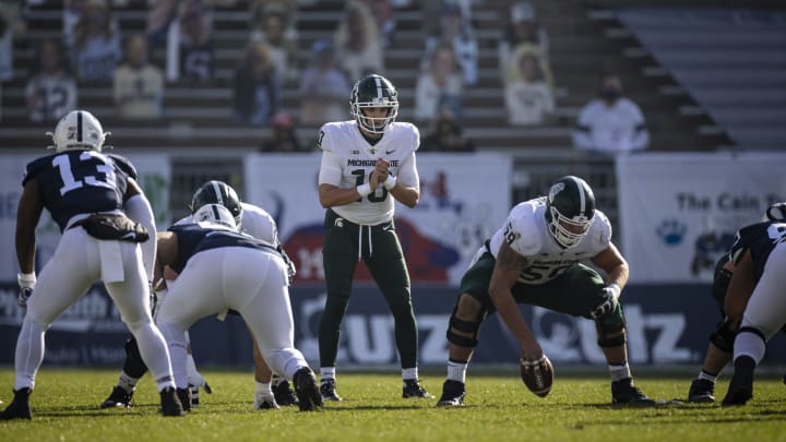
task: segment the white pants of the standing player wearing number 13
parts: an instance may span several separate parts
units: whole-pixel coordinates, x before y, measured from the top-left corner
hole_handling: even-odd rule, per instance
[[[158,390],[174,385],[166,342],[151,316],[147,273],[140,246],[97,240],[75,227],[63,232],[27,300],[27,313],[16,341],[15,390],[35,386],[36,372],[44,360],[45,332],[99,279],[104,279],[122,321],[136,338]]]

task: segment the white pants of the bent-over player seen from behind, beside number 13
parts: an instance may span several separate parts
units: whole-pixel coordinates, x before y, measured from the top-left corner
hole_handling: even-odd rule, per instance
[[[308,367],[295,348],[287,279],[284,260],[258,249],[223,247],[191,256],[156,313],[178,389],[188,386],[186,331],[198,320],[227,309],[243,318],[274,372],[291,379],[298,369]]]

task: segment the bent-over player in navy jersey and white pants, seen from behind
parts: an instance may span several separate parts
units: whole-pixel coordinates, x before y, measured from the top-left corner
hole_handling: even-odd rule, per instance
[[[293,380],[300,410],[321,407],[317,378],[295,348],[289,267],[281,248],[239,232],[221,204],[200,207],[193,222],[158,235],[155,264],[156,280],[166,272],[177,275],[156,321],[169,345],[178,389],[188,386],[186,331],[206,315],[233,309],[270,368]]]

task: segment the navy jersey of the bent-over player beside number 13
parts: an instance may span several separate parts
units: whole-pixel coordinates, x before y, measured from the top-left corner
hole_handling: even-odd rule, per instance
[[[169,227],[169,231],[177,235],[178,260],[172,266],[177,273],[182,272],[194,254],[221,247],[247,247],[278,253],[275,246],[255,239],[250,235],[241,234],[227,228],[219,228],[214,224],[181,224]]]

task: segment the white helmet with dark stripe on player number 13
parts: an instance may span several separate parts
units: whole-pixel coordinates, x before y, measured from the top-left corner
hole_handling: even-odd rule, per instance
[[[104,147],[104,141],[110,132],[104,132],[100,122],[86,110],[72,110],[58,121],[52,138],[56,152],[67,150],[97,151]]]

